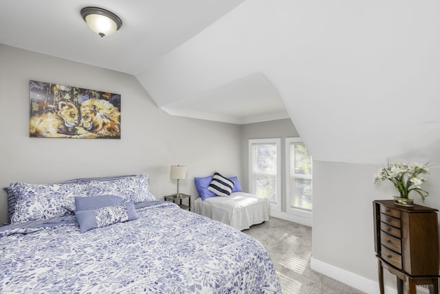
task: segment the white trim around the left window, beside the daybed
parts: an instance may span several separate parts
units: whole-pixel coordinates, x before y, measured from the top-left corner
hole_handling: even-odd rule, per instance
[[[270,139],[249,139],[248,143],[248,170],[249,170],[249,191],[251,194],[255,194],[255,187],[253,185],[252,179],[252,144],[275,144],[276,145],[276,203],[270,203],[270,210],[281,212],[281,179],[283,175],[281,174],[281,160],[283,157],[281,155],[281,138],[270,138]]]

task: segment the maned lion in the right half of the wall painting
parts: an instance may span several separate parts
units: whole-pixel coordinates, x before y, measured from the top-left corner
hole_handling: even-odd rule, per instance
[[[80,104],[80,127],[87,133],[81,138],[120,137],[120,111],[110,102],[102,99],[87,99]]]

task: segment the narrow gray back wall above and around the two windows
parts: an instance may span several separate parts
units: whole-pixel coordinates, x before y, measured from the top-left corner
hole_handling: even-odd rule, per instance
[[[285,158],[285,138],[299,137],[292,120],[272,120],[270,122],[256,122],[254,124],[243,124],[241,126],[241,166],[243,170],[240,179],[243,190],[249,190],[249,139],[281,138],[281,158]],[[281,192],[283,212],[286,210],[285,203],[285,162],[281,161]]]

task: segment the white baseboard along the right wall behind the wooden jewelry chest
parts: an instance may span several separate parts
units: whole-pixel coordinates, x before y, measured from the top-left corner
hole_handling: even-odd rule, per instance
[[[379,282],[369,280],[360,275],[356,275],[355,273],[351,273],[350,271],[316,260],[313,257],[310,258],[310,268],[365,293],[380,294]],[[397,289],[393,289],[389,286],[385,286],[384,290],[386,294],[397,294]],[[405,289],[404,292],[406,293]],[[429,293],[429,291],[426,288],[417,286],[417,293]]]

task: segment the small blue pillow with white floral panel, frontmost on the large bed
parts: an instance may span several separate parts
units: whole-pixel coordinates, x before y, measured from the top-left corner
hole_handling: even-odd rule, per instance
[[[76,220],[80,226],[81,233],[98,227],[135,220],[138,217],[133,202],[105,206],[97,210],[81,210],[76,212]]]

